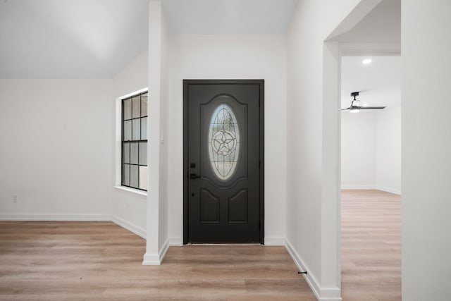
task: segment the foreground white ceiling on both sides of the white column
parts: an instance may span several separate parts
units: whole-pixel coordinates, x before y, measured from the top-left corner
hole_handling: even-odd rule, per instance
[[[273,34],[297,0],[163,0],[173,33]],[[113,78],[147,47],[148,0],[0,0],[0,78]]]

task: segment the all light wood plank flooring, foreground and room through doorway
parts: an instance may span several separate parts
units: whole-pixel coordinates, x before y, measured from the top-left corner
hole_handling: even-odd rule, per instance
[[[144,252],[114,223],[0,221],[0,300],[316,300],[284,247]],[[343,300],[401,300],[400,257],[400,197],[343,191]]]

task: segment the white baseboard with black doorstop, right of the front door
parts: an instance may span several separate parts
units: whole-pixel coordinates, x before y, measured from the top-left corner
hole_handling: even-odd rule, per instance
[[[321,288],[318,281],[316,281],[316,278],[314,274],[311,274],[311,271],[309,270],[309,267],[304,264],[301,257],[299,257],[299,254],[293,249],[292,245],[288,240],[285,240],[285,248],[287,249],[288,253],[292,257],[293,261],[295,262],[297,269],[299,271],[307,271],[307,275],[304,274],[305,281],[307,281],[307,284],[310,286],[311,290],[316,296],[316,299],[319,301],[341,301],[341,290],[340,288]]]

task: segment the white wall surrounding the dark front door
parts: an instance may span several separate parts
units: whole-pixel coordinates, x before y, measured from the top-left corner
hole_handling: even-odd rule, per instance
[[[285,237],[285,35],[171,35],[169,235],[183,238],[183,80],[265,80],[265,241]]]

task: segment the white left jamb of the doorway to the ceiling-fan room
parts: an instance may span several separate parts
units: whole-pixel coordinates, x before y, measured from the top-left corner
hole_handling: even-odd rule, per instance
[[[323,48],[323,162],[321,186],[322,297],[340,298],[340,51]]]

